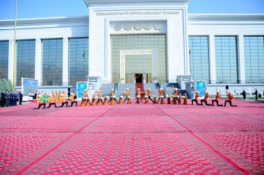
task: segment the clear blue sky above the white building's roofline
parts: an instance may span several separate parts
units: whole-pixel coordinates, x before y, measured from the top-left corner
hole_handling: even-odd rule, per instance
[[[264,0],[190,0],[189,13],[263,13]],[[88,15],[83,0],[17,0],[17,19]],[[0,19],[15,18],[15,0],[0,0]]]

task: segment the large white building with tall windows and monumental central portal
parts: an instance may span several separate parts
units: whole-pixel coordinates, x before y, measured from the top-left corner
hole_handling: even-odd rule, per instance
[[[188,0],[85,0],[89,16],[0,21],[0,78],[42,89],[102,83],[174,83],[179,75],[264,90],[264,15],[188,14]],[[7,74],[8,73],[8,74]]]

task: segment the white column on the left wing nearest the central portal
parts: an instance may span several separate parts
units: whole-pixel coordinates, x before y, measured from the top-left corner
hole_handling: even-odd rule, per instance
[[[63,38],[63,85],[69,81],[69,39]]]

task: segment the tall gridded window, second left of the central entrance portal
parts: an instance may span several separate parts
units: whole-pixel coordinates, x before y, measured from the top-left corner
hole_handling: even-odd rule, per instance
[[[42,85],[63,85],[63,39],[42,40]]]

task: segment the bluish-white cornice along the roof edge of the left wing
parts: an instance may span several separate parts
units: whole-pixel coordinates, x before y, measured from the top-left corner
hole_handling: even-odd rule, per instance
[[[17,26],[66,24],[66,23],[82,23],[82,22],[89,22],[89,16],[17,19]],[[15,25],[14,20],[10,20],[10,19],[0,20],[0,26],[14,26],[14,25]]]

